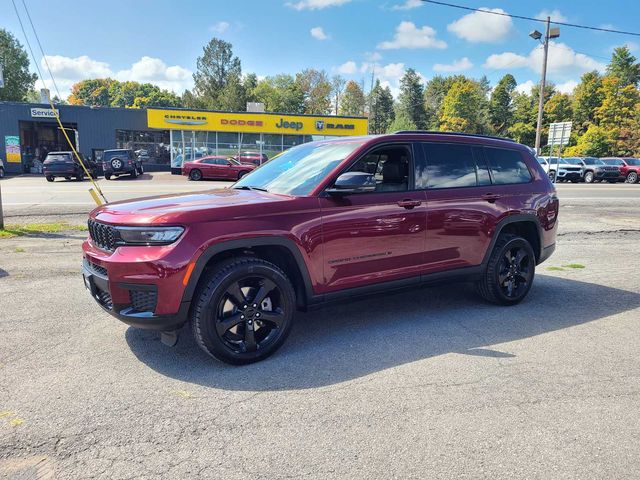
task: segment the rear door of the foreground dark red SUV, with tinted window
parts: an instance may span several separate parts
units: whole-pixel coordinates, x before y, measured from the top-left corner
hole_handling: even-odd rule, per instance
[[[505,213],[482,147],[424,142],[416,187],[426,191],[426,272],[479,265],[492,229]]]

